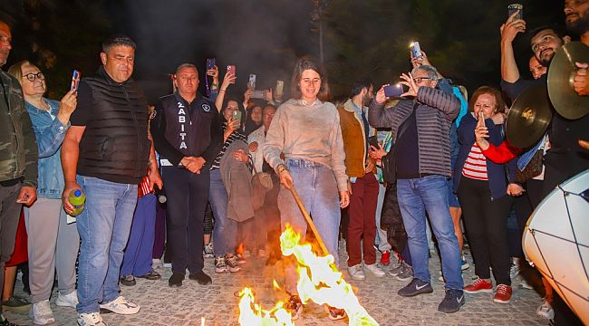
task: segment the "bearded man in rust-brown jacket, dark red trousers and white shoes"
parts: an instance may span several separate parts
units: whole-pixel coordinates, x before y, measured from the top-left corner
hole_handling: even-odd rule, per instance
[[[367,79],[353,82],[350,99],[337,109],[342,127],[345,169],[350,177],[348,180],[348,191],[351,195],[348,208],[350,224],[346,239],[350,257],[348,272],[352,279],[358,281],[365,279],[364,269],[374,276],[384,276],[384,272],[376,264],[376,252],[372,246],[376,235],[374,216],[379,196],[379,182],[373,171],[374,160],[368,157],[368,138],[375,135],[374,132],[371,133],[371,127],[368,124],[368,107],[366,106],[372,99],[372,89],[372,82]]]

